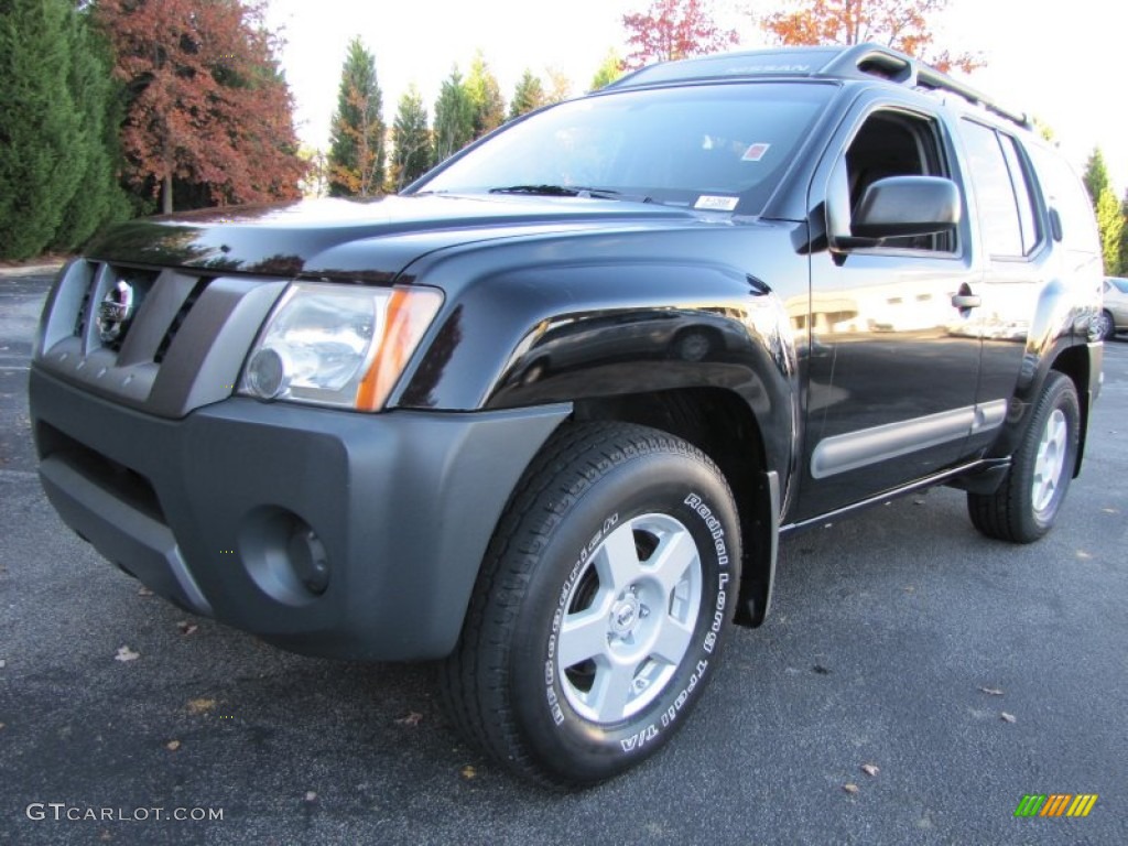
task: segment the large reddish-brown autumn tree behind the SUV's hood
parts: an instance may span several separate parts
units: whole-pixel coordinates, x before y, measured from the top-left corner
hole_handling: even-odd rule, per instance
[[[202,202],[218,205],[300,195],[307,165],[262,5],[103,0],[97,18],[126,87],[129,179],[159,194],[165,213],[174,185],[178,194],[203,188]]]

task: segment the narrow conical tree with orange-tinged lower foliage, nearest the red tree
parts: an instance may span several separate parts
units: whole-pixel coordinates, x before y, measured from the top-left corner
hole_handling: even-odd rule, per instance
[[[360,37],[341,69],[329,142],[329,196],[372,196],[384,191],[382,96],[376,58]]]

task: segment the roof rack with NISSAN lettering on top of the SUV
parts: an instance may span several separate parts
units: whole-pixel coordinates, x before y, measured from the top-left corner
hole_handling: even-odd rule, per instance
[[[910,88],[954,94],[1019,126],[1031,129],[1033,125],[1025,113],[1008,109],[971,86],[959,82],[906,53],[873,43],[756,50],[662,62],[628,73],[607,88],[769,76],[828,79],[879,77]]]

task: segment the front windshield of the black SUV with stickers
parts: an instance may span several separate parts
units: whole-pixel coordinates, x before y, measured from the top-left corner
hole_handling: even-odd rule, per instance
[[[761,82],[563,103],[494,135],[415,192],[561,194],[553,188],[574,186],[755,214],[832,94],[829,85]]]

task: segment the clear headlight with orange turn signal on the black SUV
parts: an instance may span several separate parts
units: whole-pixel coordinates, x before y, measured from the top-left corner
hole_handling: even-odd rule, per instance
[[[239,393],[377,411],[441,305],[430,288],[294,282],[258,333]]]

